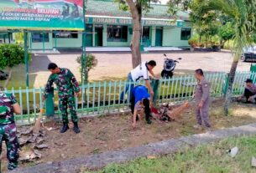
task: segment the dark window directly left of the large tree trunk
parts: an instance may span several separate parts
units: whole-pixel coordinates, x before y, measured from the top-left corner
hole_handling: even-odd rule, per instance
[[[108,42],[127,42],[128,26],[107,25]]]

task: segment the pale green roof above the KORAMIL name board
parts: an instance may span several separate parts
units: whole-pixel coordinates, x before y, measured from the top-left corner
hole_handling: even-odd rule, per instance
[[[151,4],[151,8],[149,13],[144,15],[144,18],[173,19],[173,17],[168,14],[169,7],[167,5]],[[131,17],[128,11],[124,12],[119,8],[118,3],[114,3],[111,0],[88,0],[86,15]],[[179,12],[177,16],[180,20],[189,20],[188,13]]]

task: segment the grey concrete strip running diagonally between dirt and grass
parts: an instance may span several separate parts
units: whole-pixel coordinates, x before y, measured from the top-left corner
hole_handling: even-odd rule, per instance
[[[35,165],[24,169],[17,169],[15,173],[76,173],[82,166],[99,169],[110,163],[123,163],[147,155],[167,155],[182,150],[185,146],[193,146],[215,142],[239,135],[255,135],[256,123],[225,130],[216,130],[206,134],[181,137],[176,140],[164,140],[158,143],[128,148],[118,151],[105,152],[98,155],[83,156],[72,160]]]

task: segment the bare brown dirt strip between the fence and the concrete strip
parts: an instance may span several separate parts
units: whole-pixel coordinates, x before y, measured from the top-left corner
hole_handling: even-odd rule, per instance
[[[256,122],[255,104],[231,105],[231,115],[224,116],[222,111],[223,100],[215,100],[211,106],[211,120],[213,129],[247,125]],[[67,160],[81,155],[93,155],[107,150],[120,150],[127,147],[145,145],[160,140],[179,138],[184,135],[202,133],[194,130],[196,119],[194,109],[186,109],[179,120],[168,123],[153,121],[146,125],[145,121],[138,122],[138,128],[132,128],[131,114],[116,114],[99,116],[92,119],[80,120],[81,133],[76,135],[71,129],[65,134],[58,130],[45,130],[44,144],[48,148],[40,150],[41,159],[21,163],[20,166],[36,165],[56,160]],[[46,125],[47,126],[47,125]],[[49,125],[48,125],[49,126]],[[29,145],[23,150],[28,150]],[[3,153],[5,158],[6,153]],[[7,160],[2,164],[6,166]]]

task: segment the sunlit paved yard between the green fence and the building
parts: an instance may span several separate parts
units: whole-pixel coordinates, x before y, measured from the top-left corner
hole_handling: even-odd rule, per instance
[[[93,53],[98,59],[97,68],[90,72],[90,80],[102,79],[120,79],[124,78],[132,69],[132,60],[130,53]],[[80,80],[79,64],[76,63],[76,57],[79,53],[35,55],[31,65],[30,73],[36,74],[34,87],[43,86],[49,76],[47,64],[54,62],[60,67],[71,69]],[[180,64],[176,66],[176,74],[191,73],[193,70],[201,68],[206,71],[228,72],[232,64],[232,53],[191,53],[191,52],[170,52],[167,53],[170,58],[181,57]],[[160,74],[165,57],[163,53],[144,53],[143,61],[154,59],[157,67],[154,69],[156,74]],[[249,70],[250,64],[239,63],[238,70]]]

